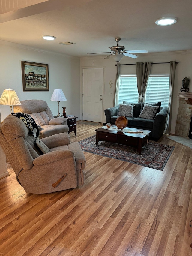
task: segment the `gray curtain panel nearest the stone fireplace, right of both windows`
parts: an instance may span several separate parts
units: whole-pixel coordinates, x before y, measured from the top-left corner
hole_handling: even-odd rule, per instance
[[[170,134],[171,132],[171,117],[172,117],[172,101],[173,101],[173,88],[174,88],[174,80],[175,80],[175,71],[176,71],[177,63],[175,61],[170,61],[170,96],[168,103],[168,113],[167,119],[165,123],[165,131],[164,133]]]

